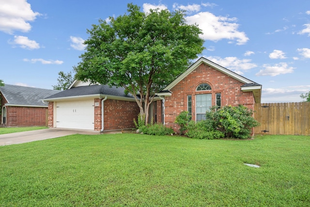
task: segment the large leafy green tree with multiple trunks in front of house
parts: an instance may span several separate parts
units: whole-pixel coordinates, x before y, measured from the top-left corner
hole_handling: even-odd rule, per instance
[[[204,49],[202,31],[187,25],[184,11],[150,10],[128,4],[128,14],[99,20],[87,30],[86,52],[76,77],[91,83],[124,87],[133,94],[141,118],[155,93],[183,73]]]

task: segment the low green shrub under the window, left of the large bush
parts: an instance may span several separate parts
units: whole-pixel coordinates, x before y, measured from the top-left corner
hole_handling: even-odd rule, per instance
[[[224,133],[216,130],[208,130],[205,120],[195,123],[191,120],[188,123],[186,136],[195,139],[220,139],[224,137]]]

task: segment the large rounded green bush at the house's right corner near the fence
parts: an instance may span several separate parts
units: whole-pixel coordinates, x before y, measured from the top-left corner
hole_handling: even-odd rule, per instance
[[[224,133],[226,138],[247,139],[251,128],[259,125],[252,115],[253,111],[243,105],[228,105],[218,110],[213,107],[206,112],[206,127]]]

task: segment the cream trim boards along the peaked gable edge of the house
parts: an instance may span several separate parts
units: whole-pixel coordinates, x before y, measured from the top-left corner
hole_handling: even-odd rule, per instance
[[[170,90],[172,89],[175,85],[177,85],[181,80],[183,80],[188,74],[190,74],[191,72],[193,72],[199,65],[201,65],[202,63],[205,63],[215,69],[217,69],[218,71],[227,74],[233,78],[235,78],[236,80],[239,80],[242,83],[254,83],[253,81],[250,81],[248,78],[245,78],[241,75],[235,74],[232,71],[217,65],[216,63],[205,59],[205,58],[200,58],[199,60],[197,60],[194,64],[192,64],[183,74],[181,74],[179,77],[177,77],[174,81],[172,81],[171,84],[169,84],[165,89],[163,90]]]

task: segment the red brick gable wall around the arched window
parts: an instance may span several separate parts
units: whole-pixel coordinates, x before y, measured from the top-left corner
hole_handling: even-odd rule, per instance
[[[212,90],[196,91],[196,88],[202,83],[209,84]],[[211,93],[212,105],[215,105],[216,93],[221,93],[222,106],[243,104],[250,109],[254,109],[255,101],[253,93],[241,91],[242,85],[244,83],[202,63],[171,89],[171,97],[165,98],[166,126],[178,131],[178,126],[174,123],[174,120],[182,111],[187,110],[187,95],[192,96],[192,120],[196,120],[195,95],[197,94]]]

